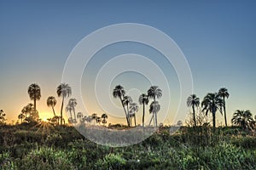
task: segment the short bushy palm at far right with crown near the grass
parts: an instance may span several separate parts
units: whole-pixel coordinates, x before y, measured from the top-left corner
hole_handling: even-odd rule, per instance
[[[234,113],[231,122],[235,125],[240,126],[243,129],[250,128],[251,123],[253,122],[253,115],[251,111],[241,111],[237,110]]]

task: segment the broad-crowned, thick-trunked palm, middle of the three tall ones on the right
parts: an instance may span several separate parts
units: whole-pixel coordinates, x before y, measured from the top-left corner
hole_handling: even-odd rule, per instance
[[[212,112],[212,124],[213,124],[213,133],[215,132],[216,127],[216,111],[219,111],[222,114],[221,107],[223,105],[223,100],[217,93],[209,93],[201,102],[202,111],[207,113]]]

